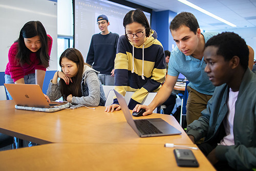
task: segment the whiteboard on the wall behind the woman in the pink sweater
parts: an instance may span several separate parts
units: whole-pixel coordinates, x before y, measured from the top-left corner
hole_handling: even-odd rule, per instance
[[[50,67],[57,70],[57,3],[48,0],[0,0],[0,72],[8,63],[8,51],[19,31],[30,20],[39,20],[53,38]]]

